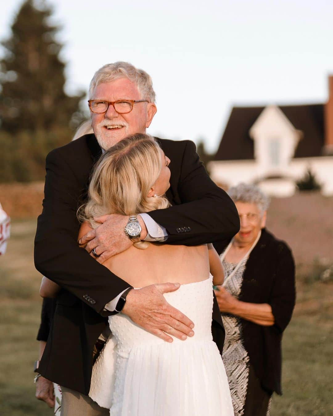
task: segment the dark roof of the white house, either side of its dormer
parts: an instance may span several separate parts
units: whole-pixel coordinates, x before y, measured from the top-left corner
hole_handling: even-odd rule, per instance
[[[322,155],[324,145],[324,105],[278,106],[303,132],[295,151],[296,158]],[[233,107],[214,160],[254,159],[254,143],[249,130],[265,107]]]

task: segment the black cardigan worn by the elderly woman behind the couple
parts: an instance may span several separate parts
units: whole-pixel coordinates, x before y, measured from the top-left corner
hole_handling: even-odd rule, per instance
[[[226,245],[215,245],[221,253]],[[295,265],[290,248],[264,228],[246,262],[239,300],[271,305],[275,323],[241,319],[244,347],[262,386],[281,391],[281,340],[295,306]]]

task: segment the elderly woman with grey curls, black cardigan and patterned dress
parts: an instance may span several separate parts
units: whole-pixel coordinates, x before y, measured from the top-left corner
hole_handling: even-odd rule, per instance
[[[224,267],[216,287],[226,339],[223,362],[236,416],[270,414],[281,394],[281,339],[295,305],[291,250],[265,229],[268,197],[241,183],[229,189],[241,220],[227,246],[216,246]]]

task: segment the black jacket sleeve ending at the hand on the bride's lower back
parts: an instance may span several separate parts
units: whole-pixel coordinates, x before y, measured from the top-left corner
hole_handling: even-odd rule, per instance
[[[80,224],[76,212],[83,192],[84,181],[72,171],[63,152],[50,152],[43,210],[37,220],[35,267],[101,313],[129,285],[77,244]]]

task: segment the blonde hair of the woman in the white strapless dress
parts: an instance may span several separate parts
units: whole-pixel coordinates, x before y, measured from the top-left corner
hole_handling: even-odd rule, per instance
[[[161,148],[153,137],[137,133],[107,150],[92,173],[88,202],[81,206],[78,218],[93,228],[94,217],[105,214],[131,215],[170,206],[165,196],[149,197],[149,190],[162,169]],[[147,248],[147,241],[134,243]]]

